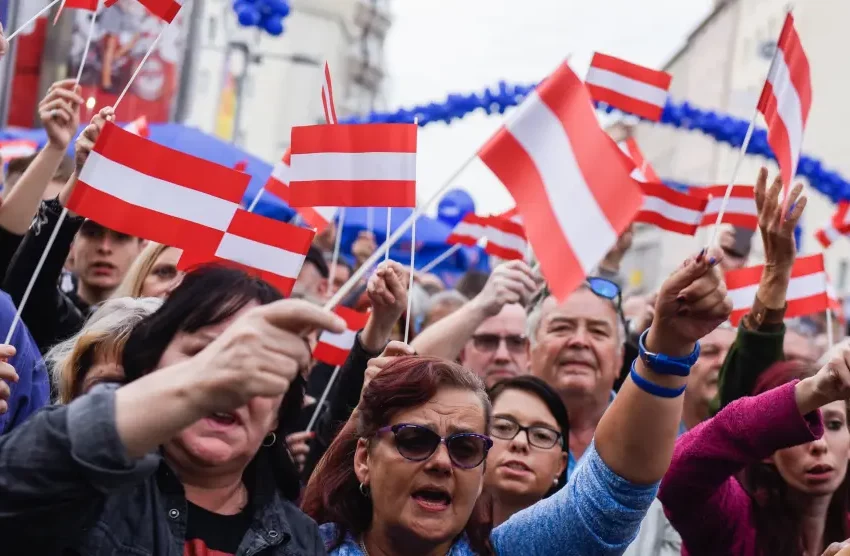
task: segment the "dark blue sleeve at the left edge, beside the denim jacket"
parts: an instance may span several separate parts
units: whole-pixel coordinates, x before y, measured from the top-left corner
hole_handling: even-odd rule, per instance
[[[0,342],[6,337],[12,320],[15,318],[15,305],[11,298],[0,292]],[[19,322],[12,335],[12,345],[17,353],[9,361],[18,372],[17,383],[9,383],[12,395],[9,398],[9,411],[0,415],[0,434],[5,434],[23,423],[27,417],[50,402],[50,380],[38,346],[30,336],[23,322]]]

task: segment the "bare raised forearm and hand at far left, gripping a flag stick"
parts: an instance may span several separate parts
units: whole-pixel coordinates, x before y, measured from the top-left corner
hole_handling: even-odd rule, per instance
[[[38,106],[47,144],[0,205],[0,227],[13,234],[23,235],[29,229],[44,191],[77,133],[83,104],[79,90],[73,79],[57,81]]]

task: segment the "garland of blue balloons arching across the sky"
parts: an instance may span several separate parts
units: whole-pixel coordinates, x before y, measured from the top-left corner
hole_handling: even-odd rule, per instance
[[[419,118],[420,126],[437,122],[450,124],[453,120],[461,119],[476,110],[483,110],[487,114],[503,114],[508,108],[522,102],[535,87],[536,85],[515,85],[501,81],[498,86],[487,88],[483,93],[449,94],[442,103],[431,102],[395,112],[371,112],[362,117],[348,118],[343,123],[412,123],[414,118]],[[618,112],[605,104],[597,104],[597,108],[607,113]],[[687,101],[678,103],[670,98],[667,99],[659,123],[678,129],[699,131],[719,143],[737,148],[744,143],[749,126],[746,120],[698,108]],[[753,132],[747,153],[776,160],[767,142],[767,130],[757,128]],[[797,175],[805,177],[812,187],[826,195],[833,203],[850,201],[850,182],[838,172],[824,167],[816,158],[802,155]]]

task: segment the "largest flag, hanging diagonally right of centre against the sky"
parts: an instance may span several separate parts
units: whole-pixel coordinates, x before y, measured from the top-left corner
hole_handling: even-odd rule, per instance
[[[552,293],[566,299],[617,242],[643,194],[561,64],[478,153],[516,201]]]

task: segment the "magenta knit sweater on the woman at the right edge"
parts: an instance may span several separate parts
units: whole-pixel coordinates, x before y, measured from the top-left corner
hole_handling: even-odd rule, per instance
[[[823,435],[819,411],[800,415],[795,384],[736,400],[679,437],[658,498],[682,535],[683,555],[759,554],[752,501],[735,475]]]

